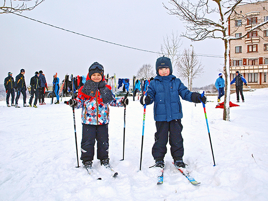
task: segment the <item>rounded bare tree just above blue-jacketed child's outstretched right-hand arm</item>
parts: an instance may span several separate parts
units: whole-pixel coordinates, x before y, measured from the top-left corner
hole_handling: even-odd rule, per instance
[[[204,67],[201,61],[198,61],[194,49],[184,49],[183,55],[177,64],[178,76],[182,79],[188,80],[188,88],[193,89],[193,79],[199,77],[204,73]]]

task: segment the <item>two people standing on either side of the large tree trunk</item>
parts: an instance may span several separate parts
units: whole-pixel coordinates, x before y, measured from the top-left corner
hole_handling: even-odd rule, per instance
[[[239,103],[239,93],[241,95],[242,102],[245,102],[244,95],[243,95],[243,84],[247,86],[247,81],[246,79],[239,73],[239,71],[236,71],[236,77],[231,81],[230,84],[236,83],[236,98],[237,98],[237,103]],[[222,78],[222,73],[218,74],[218,78],[216,79],[215,82],[215,87],[218,90],[218,103],[220,102],[220,98],[224,96],[225,91],[225,80]]]

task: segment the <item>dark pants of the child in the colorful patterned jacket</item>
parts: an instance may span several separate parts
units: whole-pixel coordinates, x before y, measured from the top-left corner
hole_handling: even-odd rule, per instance
[[[109,136],[108,124],[89,125],[82,124],[81,160],[92,161],[94,159],[94,145],[97,140],[97,159],[108,159]]]

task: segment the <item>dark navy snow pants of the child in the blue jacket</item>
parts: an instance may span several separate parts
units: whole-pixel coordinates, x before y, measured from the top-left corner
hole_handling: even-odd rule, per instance
[[[175,159],[176,157],[183,157],[183,125],[181,123],[181,119],[172,120],[170,122],[157,121],[155,122],[155,125],[155,143],[152,148],[154,160],[164,159],[167,152],[166,144],[168,138],[172,158]]]

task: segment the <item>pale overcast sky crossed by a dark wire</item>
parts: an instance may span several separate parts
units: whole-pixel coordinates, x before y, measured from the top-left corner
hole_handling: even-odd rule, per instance
[[[0,1],[3,5],[3,1]],[[169,15],[163,3],[168,1],[64,1],[46,0],[32,11],[21,15],[102,40],[159,52],[163,37],[185,31],[179,18]],[[99,62],[105,74],[129,78],[137,74],[143,64],[155,69],[157,54],[138,51],[89,37],[70,33],[14,14],[0,14],[0,79],[13,72],[15,79],[25,69],[26,84],[35,71],[42,70],[48,84],[57,72],[60,81],[66,73],[86,75],[88,67]],[[184,48],[194,46],[196,54],[224,56],[224,43],[217,39],[192,42],[182,39]],[[214,84],[224,59],[198,57],[204,74],[195,79],[194,87]],[[176,77],[177,75],[174,74]],[[131,82],[132,83],[132,82]],[[187,86],[187,81],[184,81]]]

